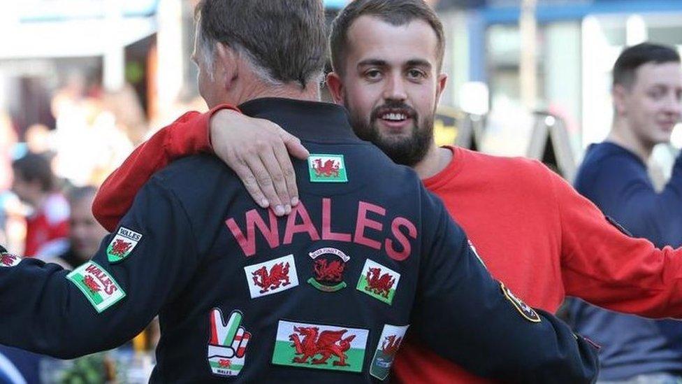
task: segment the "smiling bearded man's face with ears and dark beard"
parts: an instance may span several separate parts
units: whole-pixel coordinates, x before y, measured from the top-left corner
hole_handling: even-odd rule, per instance
[[[437,36],[423,20],[393,25],[363,15],[351,24],[342,75],[331,73],[334,100],[363,140],[394,162],[414,166],[433,143],[433,117],[446,76]]]

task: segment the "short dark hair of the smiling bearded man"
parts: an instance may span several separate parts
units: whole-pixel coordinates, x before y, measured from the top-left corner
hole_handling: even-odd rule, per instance
[[[437,37],[438,69],[443,64],[445,36],[443,24],[423,0],[355,0],[342,9],[331,27],[331,64],[336,73],[343,74],[344,61],[348,52],[348,30],[355,20],[363,15],[379,17],[393,25],[405,25],[412,20],[427,22]]]

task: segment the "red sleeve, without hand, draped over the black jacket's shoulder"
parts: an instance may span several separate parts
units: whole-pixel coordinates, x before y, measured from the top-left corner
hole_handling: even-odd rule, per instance
[[[154,172],[180,157],[211,153],[209,122],[221,109],[237,108],[227,104],[207,113],[188,112],[172,124],[160,129],[140,144],[131,155],[104,181],[92,203],[92,213],[109,232],[133,205],[138,190]]]

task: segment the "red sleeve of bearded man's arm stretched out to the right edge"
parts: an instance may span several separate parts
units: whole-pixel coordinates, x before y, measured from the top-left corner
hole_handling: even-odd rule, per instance
[[[565,180],[552,176],[566,294],[613,311],[682,318],[682,248],[627,236]]]

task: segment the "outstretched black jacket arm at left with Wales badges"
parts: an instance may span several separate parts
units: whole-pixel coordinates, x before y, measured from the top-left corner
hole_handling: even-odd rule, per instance
[[[73,358],[132,339],[193,275],[193,233],[180,202],[153,178],[75,271],[1,255],[0,344]]]

